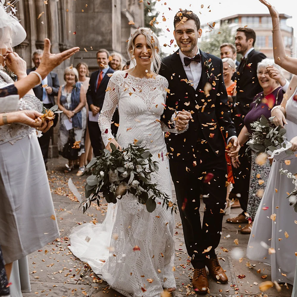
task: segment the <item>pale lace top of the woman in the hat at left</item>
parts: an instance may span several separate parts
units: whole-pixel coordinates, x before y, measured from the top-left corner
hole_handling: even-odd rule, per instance
[[[13,83],[12,79],[5,72],[0,70],[0,88]],[[19,100],[18,110],[36,110],[42,112],[42,102],[35,96],[25,95]],[[36,129],[23,124],[10,124],[0,127],[0,145],[6,142],[14,144],[26,136],[36,134]]]

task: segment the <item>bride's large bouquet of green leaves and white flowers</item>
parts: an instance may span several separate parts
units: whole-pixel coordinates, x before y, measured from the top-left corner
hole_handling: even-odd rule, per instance
[[[159,169],[158,162],[151,159],[150,151],[138,144],[129,144],[121,151],[110,143],[112,151],[104,149],[101,156],[95,157],[87,165],[87,178],[85,185],[86,200],[81,203],[83,212],[91,205],[91,202],[100,201],[99,193],[108,203],[117,203],[126,193],[134,195],[138,202],[146,205],[149,212],[156,208],[156,198],[163,200],[163,206],[171,207],[171,213],[175,209],[167,194],[157,189],[157,184],[151,183],[152,174]],[[159,202],[161,204],[161,202]]]

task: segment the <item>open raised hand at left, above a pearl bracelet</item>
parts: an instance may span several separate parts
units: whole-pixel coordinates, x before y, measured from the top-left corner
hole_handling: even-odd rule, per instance
[[[71,57],[73,54],[79,51],[79,47],[70,48],[64,50],[62,53],[51,54],[50,53],[50,40],[46,38],[44,40],[43,56],[40,62],[37,72],[40,73],[42,78],[45,78],[55,67],[60,65],[63,61]]]

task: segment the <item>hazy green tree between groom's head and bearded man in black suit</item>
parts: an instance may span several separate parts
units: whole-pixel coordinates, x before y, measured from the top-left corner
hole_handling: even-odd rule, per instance
[[[211,32],[205,32],[203,30],[204,40],[199,44],[201,50],[220,57],[221,44],[226,42],[234,44],[234,34],[228,23],[223,23],[219,29],[211,29],[209,27],[208,31]]]

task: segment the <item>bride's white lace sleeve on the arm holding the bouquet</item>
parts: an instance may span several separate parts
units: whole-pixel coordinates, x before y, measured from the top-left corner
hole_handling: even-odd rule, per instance
[[[105,146],[107,146],[109,141],[112,138],[114,138],[111,133],[111,120],[113,113],[116,110],[116,106],[118,105],[118,102],[119,85],[116,82],[116,74],[114,73],[108,82],[103,107],[98,118],[98,124],[101,130],[102,140]]]

